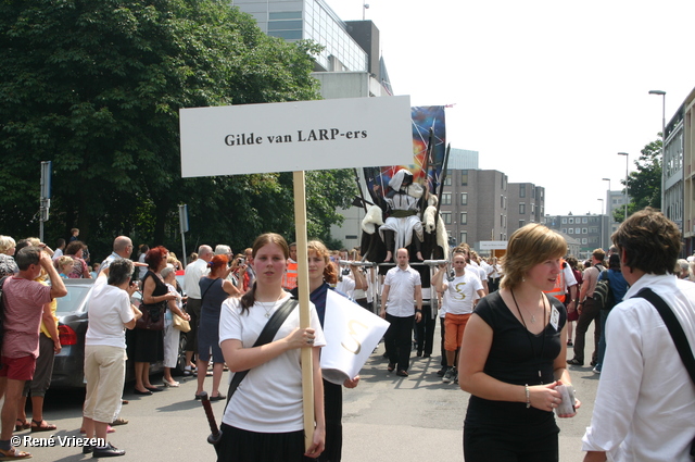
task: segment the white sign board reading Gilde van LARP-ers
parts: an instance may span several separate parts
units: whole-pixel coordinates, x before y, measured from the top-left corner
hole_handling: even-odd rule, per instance
[[[407,165],[410,97],[180,110],[181,176]]]

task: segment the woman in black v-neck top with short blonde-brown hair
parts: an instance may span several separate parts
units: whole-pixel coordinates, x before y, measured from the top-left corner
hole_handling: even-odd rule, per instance
[[[460,388],[471,394],[466,462],[558,460],[555,388],[571,387],[567,313],[543,291],[553,289],[566,251],[565,239],[545,226],[518,229],[503,257],[501,290],[483,298],[468,321],[458,373]]]

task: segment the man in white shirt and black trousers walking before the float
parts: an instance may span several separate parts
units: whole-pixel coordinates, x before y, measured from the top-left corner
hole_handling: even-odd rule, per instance
[[[387,273],[381,294],[380,315],[391,325],[384,335],[389,372],[396,367],[396,375],[408,376],[410,364],[410,341],[413,339],[413,320],[422,319],[422,282],[420,273],[408,264],[407,249],[396,252],[396,267]],[[416,308],[413,307],[415,299]]]

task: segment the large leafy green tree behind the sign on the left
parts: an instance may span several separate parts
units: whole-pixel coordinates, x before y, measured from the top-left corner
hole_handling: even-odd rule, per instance
[[[317,99],[318,51],[266,36],[227,1],[1,2],[2,233],[36,235],[39,164],[50,160],[47,240],[77,226],[92,252],[118,234],[172,247],[179,203],[189,248],[240,248],[267,230],[292,239],[291,175],[181,178],[178,111]],[[309,229],[326,236],[352,189],[339,189],[340,172],[309,178]]]

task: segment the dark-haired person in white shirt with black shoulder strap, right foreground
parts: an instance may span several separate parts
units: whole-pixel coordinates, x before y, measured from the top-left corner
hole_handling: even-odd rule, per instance
[[[681,251],[678,225],[644,209],[611,237],[630,289],[608,316],[606,355],[584,461],[692,461],[695,384],[654,305],[661,298],[695,346],[695,285],[672,274]],[[612,341],[616,339],[616,341]]]

